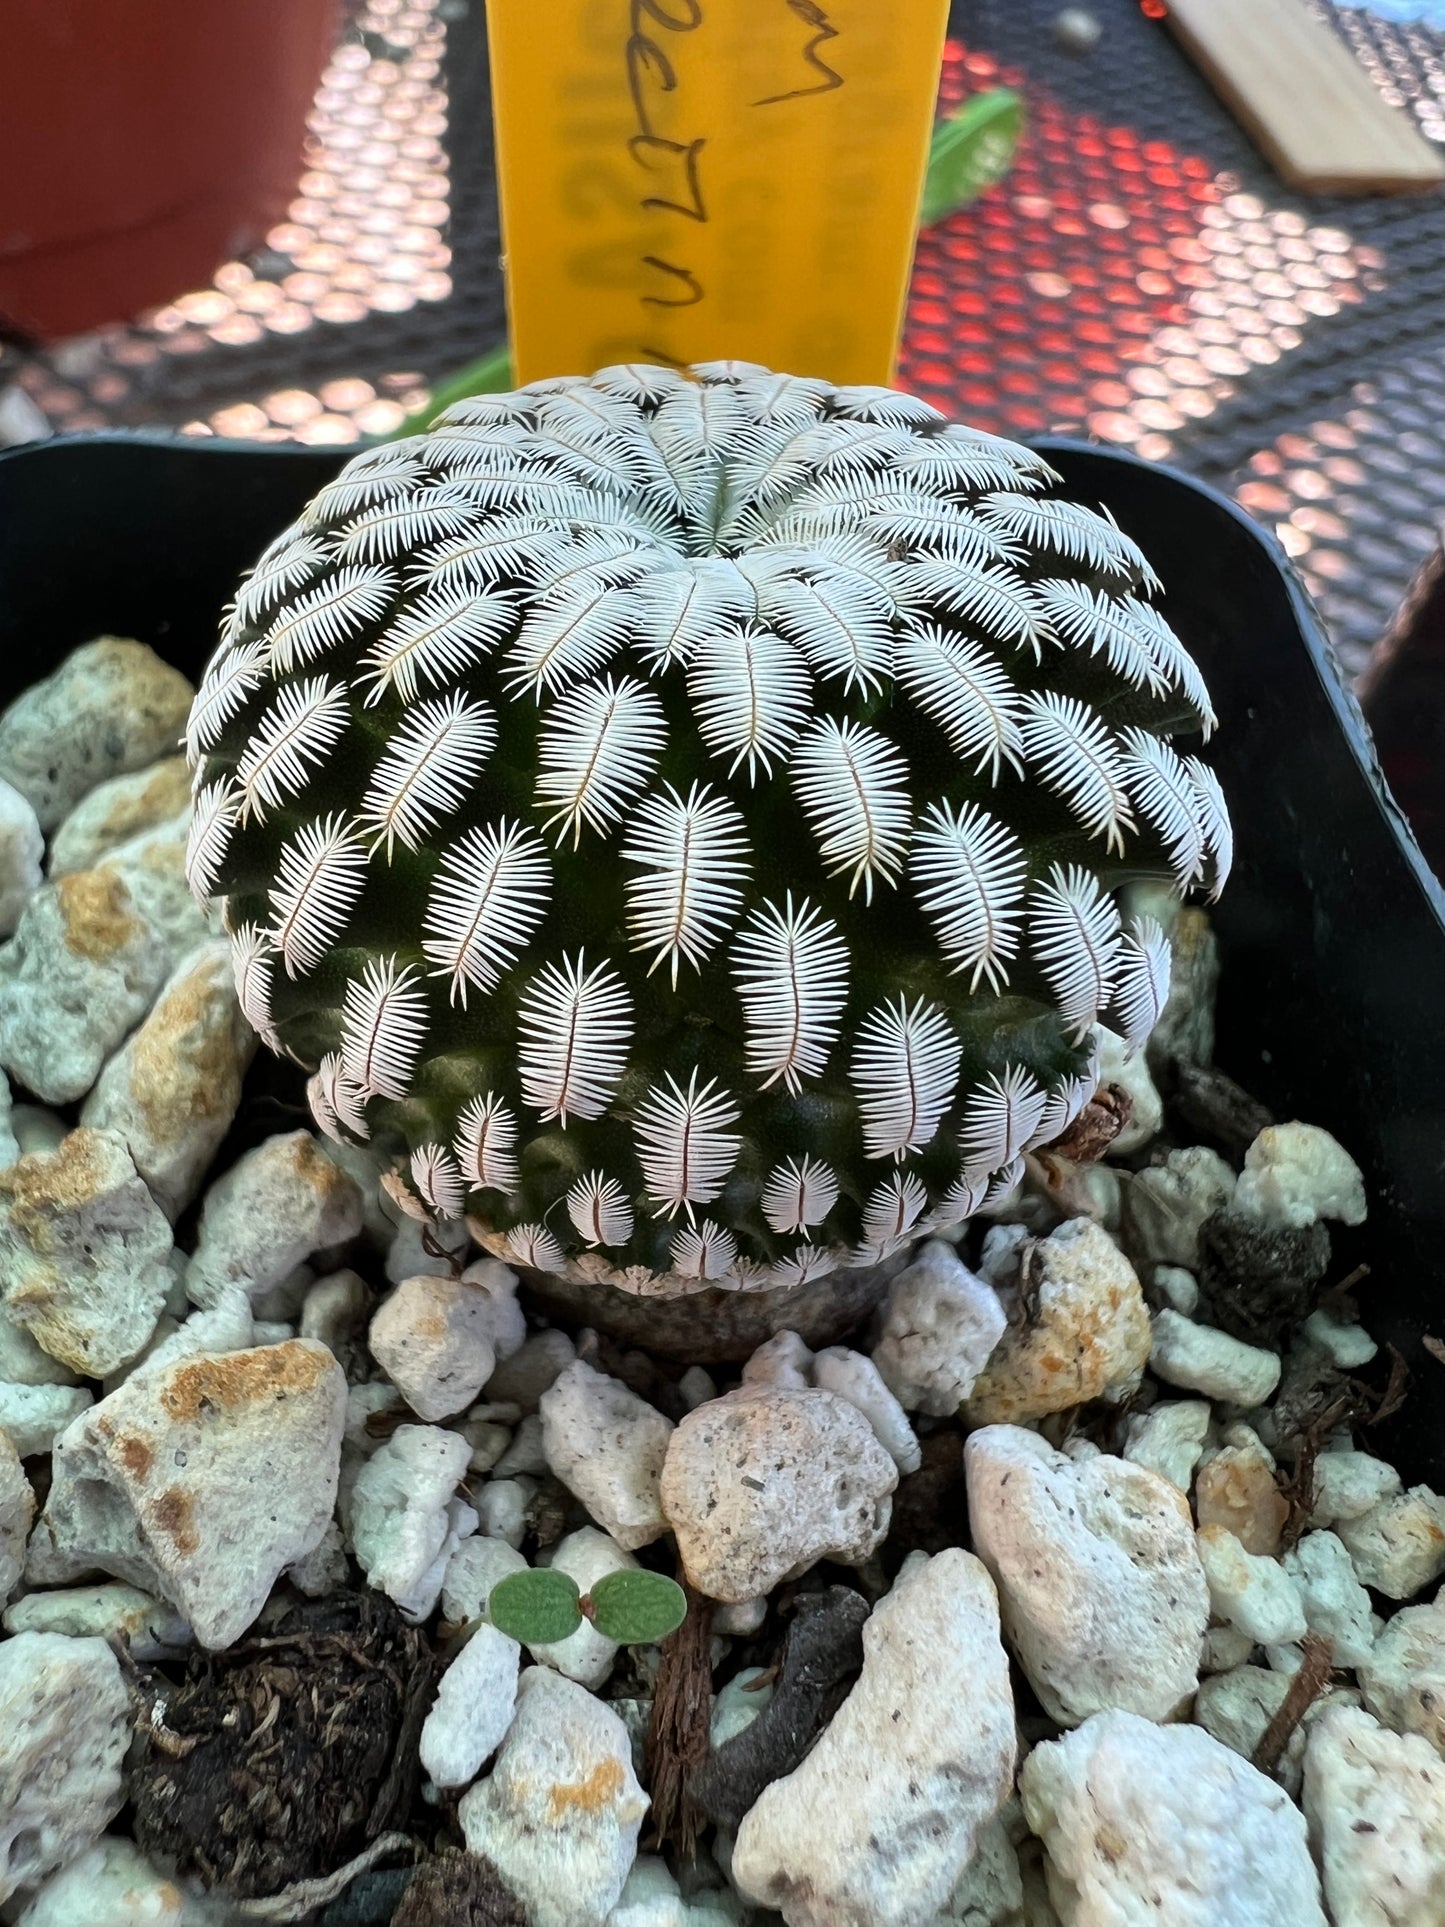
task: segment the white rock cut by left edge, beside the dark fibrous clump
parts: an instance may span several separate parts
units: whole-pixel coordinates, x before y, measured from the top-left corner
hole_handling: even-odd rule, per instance
[[[131,1696],[104,1640],[0,1640],[0,1900],[89,1846],[125,1800]]]

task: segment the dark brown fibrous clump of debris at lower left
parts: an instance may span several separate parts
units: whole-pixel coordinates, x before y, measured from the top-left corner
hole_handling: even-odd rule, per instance
[[[289,1611],[185,1680],[144,1675],[135,1836],[241,1896],[314,1881],[405,1821],[434,1682],[426,1636],[376,1592]]]

